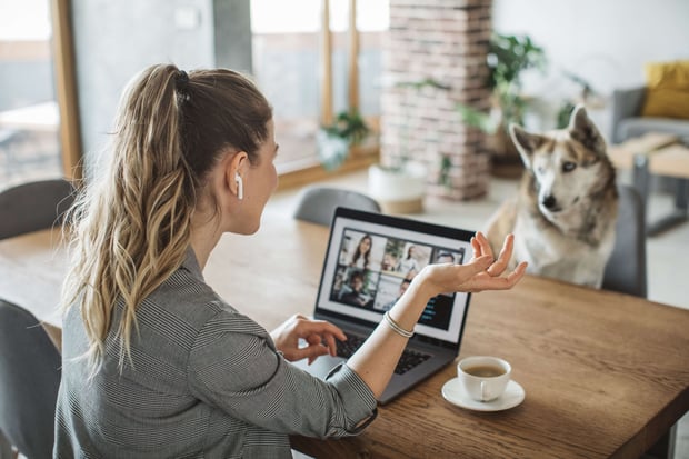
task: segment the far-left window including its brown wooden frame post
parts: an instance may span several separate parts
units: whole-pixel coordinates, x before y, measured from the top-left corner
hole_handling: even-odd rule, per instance
[[[0,2],[0,188],[81,178],[69,6]]]

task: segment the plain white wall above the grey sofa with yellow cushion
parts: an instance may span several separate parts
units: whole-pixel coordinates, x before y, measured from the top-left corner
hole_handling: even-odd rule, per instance
[[[546,99],[546,106],[577,92],[562,70],[609,97],[615,88],[642,84],[646,62],[689,59],[687,0],[493,0],[493,28],[528,33],[545,48],[548,73],[530,72],[525,91]],[[591,113],[603,133],[608,108]],[[548,110],[553,109],[541,108]]]

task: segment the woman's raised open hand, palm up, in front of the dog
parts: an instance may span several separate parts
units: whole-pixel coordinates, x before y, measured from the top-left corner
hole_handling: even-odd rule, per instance
[[[477,232],[471,238],[473,256],[467,265],[443,263],[427,267],[428,272],[423,278],[431,289],[431,296],[449,291],[479,292],[512,288],[527,270],[527,263],[521,262],[513,271],[503,276],[512,257],[513,246],[515,237],[508,235],[496,259],[486,236]]]

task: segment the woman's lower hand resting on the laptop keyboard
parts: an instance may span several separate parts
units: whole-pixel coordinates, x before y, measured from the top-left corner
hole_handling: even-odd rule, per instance
[[[347,340],[347,336],[338,327],[324,320],[311,320],[302,315],[290,317],[284,323],[270,332],[276,347],[289,361],[309,359],[313,362],[327,353],[337,355],[336,339]],[[300,347],[303,338],[307,346]]]

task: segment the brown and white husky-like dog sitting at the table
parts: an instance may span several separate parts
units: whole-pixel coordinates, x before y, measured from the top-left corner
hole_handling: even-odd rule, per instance
[[[510,136],[526,166],[519,192],[487,226],[495,253],[515,233],[511,265],[600,288],[615,245],[618,193],[606,142],[578,106],[567,129],[543,134],[511,124]]]

